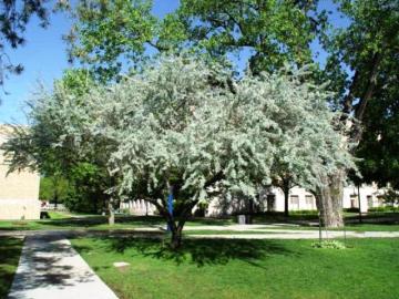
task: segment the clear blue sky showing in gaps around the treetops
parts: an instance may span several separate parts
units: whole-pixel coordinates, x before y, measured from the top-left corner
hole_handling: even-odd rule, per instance
[[[162,18],[177,7],[178,0],[154,0],[153,12]],[[320,7],[335,11],[330,0],[320,0]],[[338,25],[348,23],[336,12],[330,18]],[[8,52],[12,62],[23,64],[24,71],[21,75],[11,75],[6,81],[4,91],[8,94],[0,92],[0,123],[27,123],[23,113],[24,102],[30,97],[38,82],[51,87],[53,80],[61,78],[63,70],[71,66],[66,61],[66,45],[62,41],[62,35],[68,33],[71,24],[71,20],[62,13],[51,16],[48,29],[38,27],[38,20],[32,19],[25,32],[27,44]],[[320,52],[317,42],[313,43],[313,50],[315,53]],[[243,68],[247,55],[248,52],[243,51],[239,58],[233,56],[233,59]],[[316,60],[323,63],[324,59],[325,53],[321,51]]]

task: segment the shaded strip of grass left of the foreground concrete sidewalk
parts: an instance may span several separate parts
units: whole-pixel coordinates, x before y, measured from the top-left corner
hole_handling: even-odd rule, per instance
[[[6,298],[11,287],[22,244],[22,239],[0,237],[0,298]]]

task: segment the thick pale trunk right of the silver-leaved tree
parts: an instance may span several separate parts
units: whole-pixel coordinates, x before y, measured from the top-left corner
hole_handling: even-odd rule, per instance
[[[317,188],[316,198],[324,226],[342,227],[342,195],[345,171],[339,171],[331,176],[323,176],[325,186]]]

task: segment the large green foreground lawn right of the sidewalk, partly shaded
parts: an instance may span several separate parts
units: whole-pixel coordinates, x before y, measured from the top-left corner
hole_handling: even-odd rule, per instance
[[[177,252],[156,239],[72,244],[122,299],[399,298],[397,239],[350,239],[344,250],[310,240],[187,239]]]

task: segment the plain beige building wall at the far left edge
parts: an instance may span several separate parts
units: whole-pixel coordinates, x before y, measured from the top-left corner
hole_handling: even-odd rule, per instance
[[[0,145],[11,133],[11,127],[0,125]],[[8,174],[9,166],[0,150],[0,219],[39,219],[40,175],[30,171]]]

